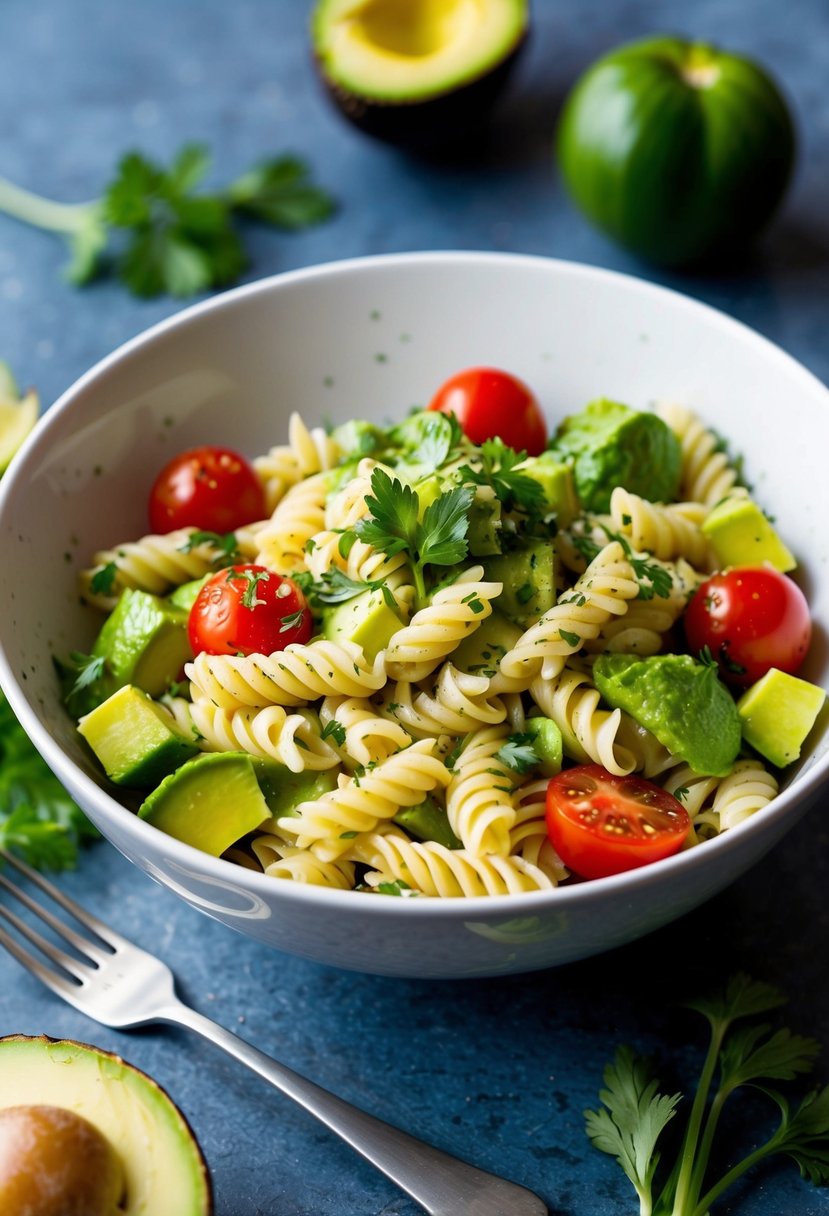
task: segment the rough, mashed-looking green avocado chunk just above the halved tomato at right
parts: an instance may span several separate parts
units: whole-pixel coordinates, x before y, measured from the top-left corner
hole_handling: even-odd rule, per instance
[[[715,666],[689,654],[599,654],[593,680],[694,772],[724,777],[740,749],[740,719]]]

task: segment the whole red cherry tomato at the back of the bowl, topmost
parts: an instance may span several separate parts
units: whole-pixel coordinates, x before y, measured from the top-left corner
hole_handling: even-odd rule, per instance
[[[547,423],[538,401],[517,376],[497,367],[468,367],[438,389],[430,410],[453,413],[473,444],[503,439],[530,456],[547,445]]]

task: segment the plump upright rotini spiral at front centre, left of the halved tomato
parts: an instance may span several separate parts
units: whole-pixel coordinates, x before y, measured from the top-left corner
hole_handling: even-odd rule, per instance
[[[515,772],[497,756],[508,738],[506,725],[480,727],[467,737],[455,759],[446,815],[452,832],[473,857],[506,857],[509,852]]]

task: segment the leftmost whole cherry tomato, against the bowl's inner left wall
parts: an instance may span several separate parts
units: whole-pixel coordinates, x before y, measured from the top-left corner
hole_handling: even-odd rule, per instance
[[[150,528],[229,533],[264,519],[265,491],[252,465],[230,447],[205,445],[174,456],[150,491]]]

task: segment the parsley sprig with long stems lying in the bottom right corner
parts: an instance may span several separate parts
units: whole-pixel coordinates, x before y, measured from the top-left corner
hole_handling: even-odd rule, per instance
[[[768,984],[739,973],[721,991],[689,1003],[709,1023],[709,1048],[673,1167],[660,1171],[658,1144],[682,1105],[682,1094],[659,1092],[649,1060],[622,1046],[605,1070],[598,1110],[586,1110],[587,1136],[616,1161],[639,1197],[642,1216],[706,1216],[723,1193],[760,1161],[788,1155],[803,1177],[829,1184],[829,1086],[795,1107],[769,1082],[812,1071],[819,1045],[773,1029],[762,1019],[785,1003]],[[735,1025],[737,1024],[737,1025]],[[723,1109],[744,1086],[779,1110],[777,1128],[745,1158],[711,1177],[711,1150]]]

